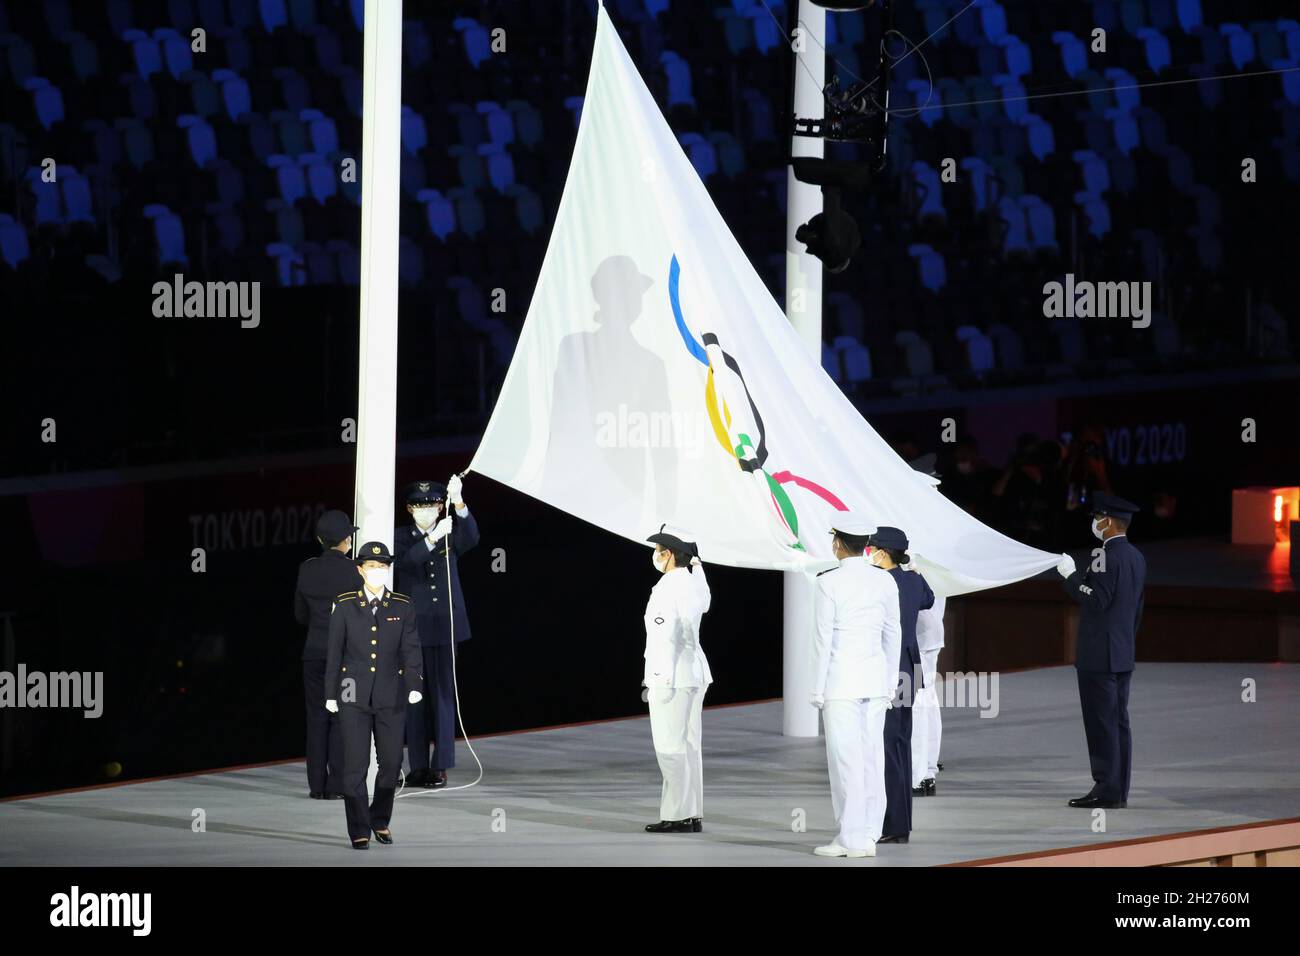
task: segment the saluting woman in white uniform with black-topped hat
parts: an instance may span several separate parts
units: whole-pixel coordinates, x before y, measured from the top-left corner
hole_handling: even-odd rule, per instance
[[[660,525],[653,542],[659,581],[646,604],[642,696],[650,704],[650,734],[663,774],[659,822],[651,834],[701,832],[705,777],[701,753],[705,693],[714,682],[699,646],[699,619],[708,610],[708,581],[699,549],[684,531]]]

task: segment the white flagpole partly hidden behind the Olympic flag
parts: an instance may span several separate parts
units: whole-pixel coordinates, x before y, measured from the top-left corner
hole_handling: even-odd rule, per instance
[[[826,82],[826,9],[811,0],[798,0],[798,29],[794,46],[794,116],[822,118]],[[792,137],[792,156],[823,156],[822,139]],[[822,212],[822,190],[786,172],[785,203],[785,316],[803,339],[810,354],[822,362],[822,261],[809,255],[794,230]],[[784,575],[784,639],[781,692],[784,697],[781,731],[792,737],[818,735],[818,711],[809,702],[812,693],[814,579],[800,571]]]

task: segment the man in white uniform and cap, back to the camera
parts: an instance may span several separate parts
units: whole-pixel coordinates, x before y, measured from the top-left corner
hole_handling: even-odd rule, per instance
[[[812,706],[822,710],[836,838],[818,856],[876,855],[885,818],[885,711],[898,685],[898,585],[862,551],[875,525],[841,511],[831,528],[840,564],[816,578]]]

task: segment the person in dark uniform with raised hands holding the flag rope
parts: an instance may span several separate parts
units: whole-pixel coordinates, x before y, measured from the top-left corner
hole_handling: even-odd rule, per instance
[[[407,760],[411,786],[447,786],[447,770],[456,765],[456,693],[452,675],[451,632],[456,644],[469,640],[469,618],[460,592],[458,559],[478,544],[478,524],[469,514],[454,475],[446,488],[438,481],[407,486],[407,511],[413,524],[393,533],[396,587],[411,594],[424,654],[425,700],[407,711]],[[446,502],[455,516],[446,512]],[[451,588],[447,589],[447,561]],[[429,741],[433,739],[433,767]]]

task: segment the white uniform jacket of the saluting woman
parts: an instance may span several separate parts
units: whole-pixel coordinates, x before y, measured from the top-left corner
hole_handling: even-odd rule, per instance
[[[707,687],[714,682],[699,646],[699,619],[711,601],[705,568],[659,575],[646,605],[646,687]]]

